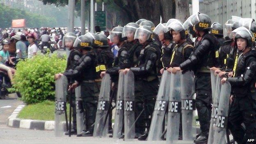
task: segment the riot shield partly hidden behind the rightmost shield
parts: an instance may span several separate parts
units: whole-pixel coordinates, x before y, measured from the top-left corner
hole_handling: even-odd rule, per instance
[[[211,113],[211,119],[210,119],[210,129],[209,129],[209,136],[208,136],[208,143],[212,144],[213,139],[215,137],[214,131],[215,131],[215,123],[217,118],[217,112],[218,112],[218,106],[219,106],[219,96],[220,96],[220,78],[219,75],[215,76],[215,89],[213,95],[213,107],[212,107],[212,113]],[[213,91],[213,90],[212,90]]]

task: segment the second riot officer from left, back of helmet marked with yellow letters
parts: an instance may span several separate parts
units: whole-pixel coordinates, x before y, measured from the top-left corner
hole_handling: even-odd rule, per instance
[[[71,89],[74,89],[78,85],[81,86],[82,105],[85,112],[85,127],[87,129],[83,130],[77,136],[92,136],[97,111],[97,99],[94,96],[97,57],[96,53],[92,51],[92,43],[89,36],[83,35],[78,37],[74,42],[74,46],[77,46],[82,51],[82,57],[78,61],[79,65],[71,71],[66,71],[63,75],[76,80],[71,85]]]

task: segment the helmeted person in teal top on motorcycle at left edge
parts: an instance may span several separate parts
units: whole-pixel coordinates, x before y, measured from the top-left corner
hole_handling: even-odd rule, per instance
[[[0,51],[0,70],[4,70],[7,72],[8,77],[11,80],[11,84],[13,84],[13,78],[12,73],[15,73],[15,69],[10,68],[9,66],[6,66],[5,63],[9,62],[9,64],[13,64],[12,60],[10,59],[8,48],[9,48],[10,42],[4,39],[1,43],[3,49]]]

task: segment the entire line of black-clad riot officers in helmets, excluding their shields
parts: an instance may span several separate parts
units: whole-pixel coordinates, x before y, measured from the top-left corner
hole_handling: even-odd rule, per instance
[[[80,37],[73,33],[65,34],[64,45],[71,51],[66,71],[56,74],[55,79],[65,75],[69,81],[75,80],[69,87],[71,90],[81,86],[86,129],[77,136],[93,134],[96,95],[105,73],[111,76],[113,99],[116,100],[119,72],[132,71],[135,75],[135,118],[145,109],[135,124],[136,138],[146,140],[159,78],[167,69],[174,74],[177,71],[194,71],[201,129],[194,141],[196,144],[207,143],[208,140],[212,108],[211,70],[221,77],[222,83],[228,81],[232,87],[228,128],[234,140],[245,144],[247,139],[256,138],[255,34],[254,19],[237,16],[232,16],[224,26],[211,23],[210,17],[201,13],[193,14],[184,23],[169,19],[156,27],[151,21],[140,19],[124,27],[114,27],[110,32],[110,41],[119,47],[115,58],[104,34],[87,33]],[[195,38],[195,42],[190,37]],[[74,127],[71,133],[76,134],[74,94],[72,98]],[[111,115],[110,112],[110,118]],[[109,125],[111,132],[111,121]]]

